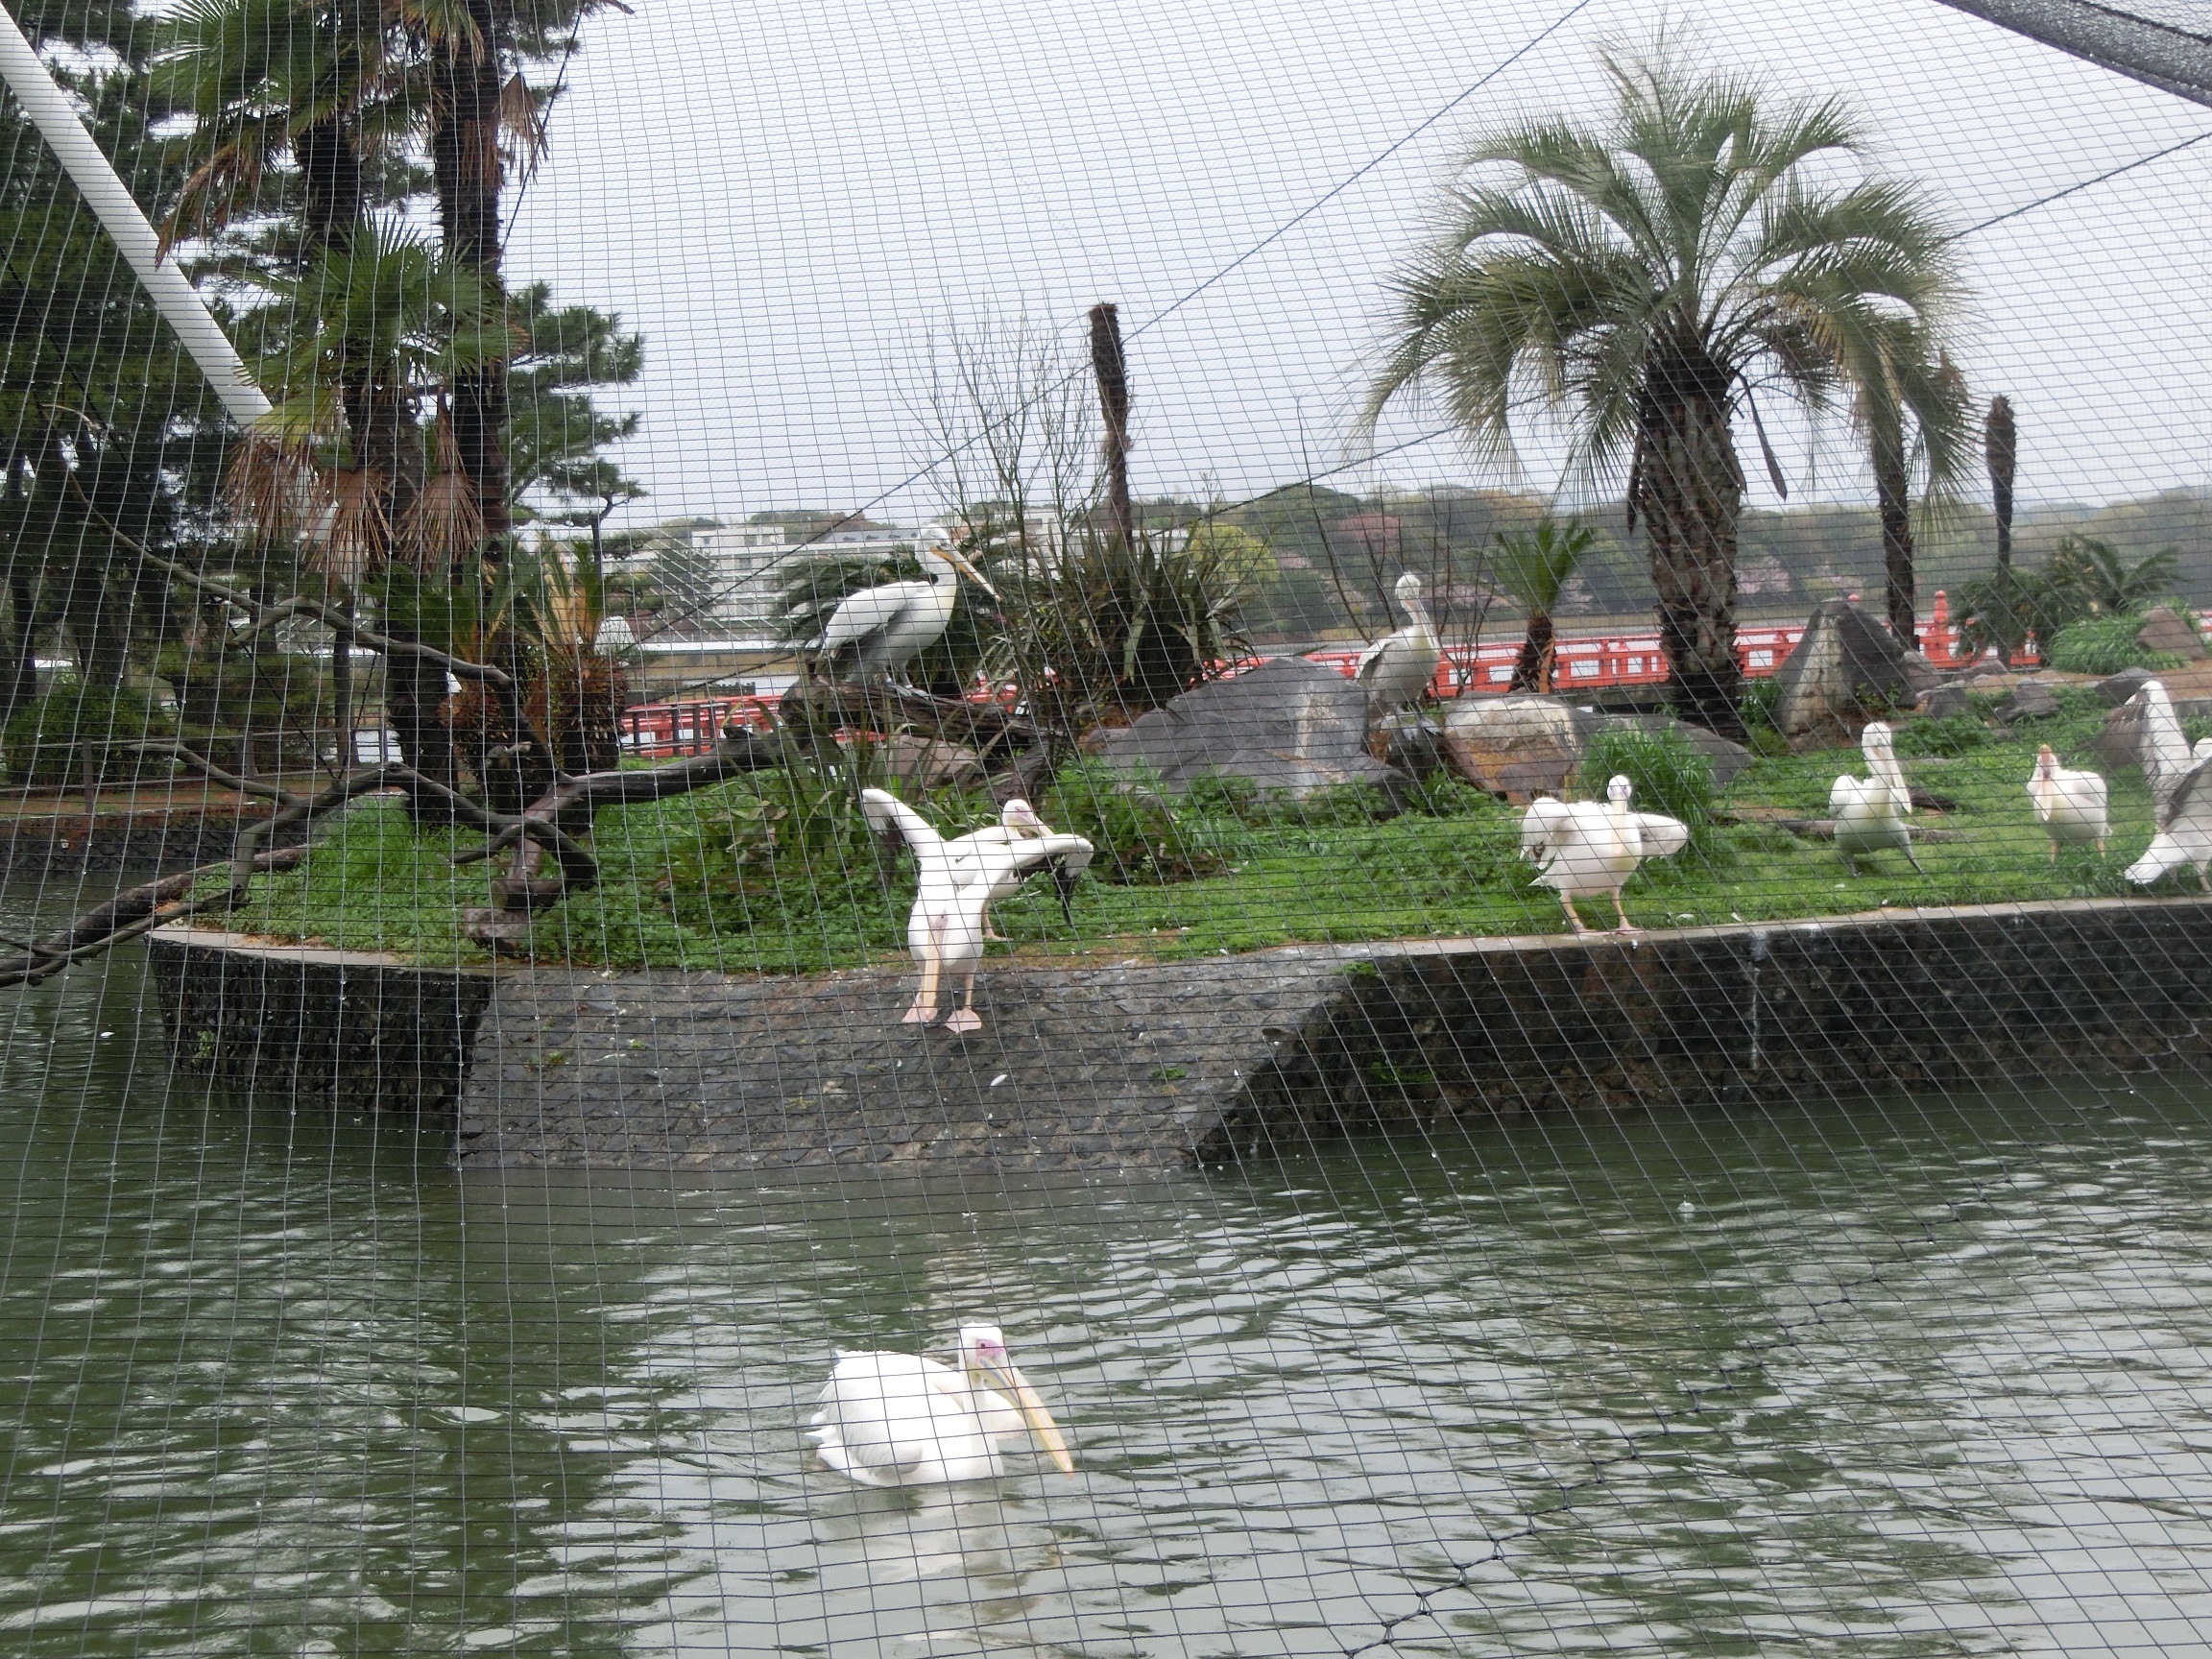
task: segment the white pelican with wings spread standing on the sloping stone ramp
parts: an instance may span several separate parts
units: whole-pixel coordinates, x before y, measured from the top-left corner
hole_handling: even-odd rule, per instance
[[[920,812],[885,790],[860,790],[860,810],[878,834],[898,830],[914,847],[922,874],[914,914],[907,918],[907,949],[922,964],[922,987],[905,1022],[927,1026],[936,1020],[938,989],[958,973],[960,1009],[945,1015],[945,1029],[953,1033],[980,1029],[975,969],[982,962],[984,909],[1046,865],[1057,865],[1071,876],[1084,869],[1091,863],[1091,843],[1055,834],[1009,836],[1004,825],[947,841]]]

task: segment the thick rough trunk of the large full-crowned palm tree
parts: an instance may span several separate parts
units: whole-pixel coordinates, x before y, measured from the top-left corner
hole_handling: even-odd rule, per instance
[[[1743,467],[1728,422],[1728,376],[1712,363],[1655,367],[1639,411],[1630,526],[1644,520],[1659,648],[1683,719],[1743,741],[1736,664],[1736,524]]]

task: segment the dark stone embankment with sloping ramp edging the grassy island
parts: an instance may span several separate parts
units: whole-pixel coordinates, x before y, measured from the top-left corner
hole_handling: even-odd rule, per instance
[[[173,929],[179,1066],[436,1113],[462,1166],[1161,1170],[1517,1110],[2212,1060],[2212,898],[911,973],[425,971]]]

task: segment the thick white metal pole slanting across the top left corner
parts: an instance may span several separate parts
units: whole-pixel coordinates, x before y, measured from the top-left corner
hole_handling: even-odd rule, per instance
[[[0,7],[0,18],[7,20],[7,27],[0,29],[0,77],[15,93],[22,113],[53,146],[55,159],[77,186],[84,206],[97,215],[117,252],[137,272],[155,310],[177,330],[177,338],[192,354],[199,372],[208,376],[208,385],[215,387],[215,396],[221,398],[230,418],[241,427],[259,420],[270,411],[270,400],[261,396],[261,387],[246,372],[239,349],[223,334],[208,303],[177,270],[177,263],[161,259],[161,239],[155,234],[153,221],[139,210],[115,164],[93,144],[93,135],[77,119],[69,93],[46,73],[46,64],[38,60],[38,51],[15,22],[15,13]]]

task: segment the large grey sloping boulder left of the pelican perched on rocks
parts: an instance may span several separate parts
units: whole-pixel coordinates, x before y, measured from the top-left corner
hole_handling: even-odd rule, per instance
[[[1152,770],[1170,790],[1208,772],[1290,794],[1402,783],[1367,752],[1367,690],[1305,657],[1270,657],[1188,690],[1130,726],[1091,732],[1084,750],[1117,770]]]

